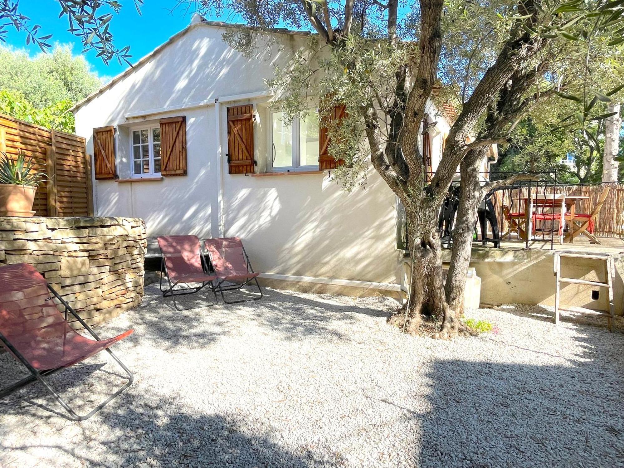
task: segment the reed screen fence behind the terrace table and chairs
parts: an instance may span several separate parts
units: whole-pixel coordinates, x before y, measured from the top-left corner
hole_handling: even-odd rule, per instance
[[[550,185],[539,187],[533,186],[532,193],[552,194],[565,193],[565,195],[582,195],[589,197],[588,200],[578,200],[576,203],[577,213],[592,213],[593,208],[598,203],[600,194],[609,186],[611,190],[605,200],[605,204],[600,210],[595,227],[595,233],[602,237],[624,236],[624,184],[622,183],[602,183],[598,185]],[[522,197],[527,197],[529,188],[505,188],[498,193],[502,199],[502,204],[510,207],[511,212],[520,212],[522,207]],[[536,192],[537,190],[537,192]],[[495,202],[495,211],[498,218],[499,227],[502,232],[507,231],[508,223],[502,214],[502,208]]]

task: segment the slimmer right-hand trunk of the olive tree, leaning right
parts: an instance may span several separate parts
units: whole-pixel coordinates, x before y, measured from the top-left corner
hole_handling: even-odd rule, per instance
[[[472,250],[472,234],[477,220],[477,210],[483,200],[479,169],[488,149],[489,147],[481,147],[470,150],[459,165],[461,174],[459,207],[452,235],[451,264],[444,287],[446,300],[457,316],[464,313],[464,291]]]

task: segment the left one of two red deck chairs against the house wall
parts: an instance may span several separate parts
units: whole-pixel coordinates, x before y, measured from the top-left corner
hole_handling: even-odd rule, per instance
[[[160,292],[163,297],[171,296],[173,299],[173,307],[176,310],[190,310],[193,307],[181,309],[175,302],[175,296],[183,296],[194,294],[202,290],[205,286],[210,285],[210,289],[215,295],[215,304],[217,303],[217,293],[212,281],[217,276],[208,273],[208,265],[202,255],[202,247],[197,236],[160,236],[158,237],[158,246],[162,254],[160,263]],[[162,288],[162,273],[167,274],[169,288]],[[190,283],[202,283],[199,286],[189,286],[186,288],[177,288],[177,285],[188,285]]]

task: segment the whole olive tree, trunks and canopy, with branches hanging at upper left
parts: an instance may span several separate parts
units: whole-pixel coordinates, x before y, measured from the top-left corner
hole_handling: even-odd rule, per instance
[[[2,8],[2,2],[8,7]],[[140,3],[134,0],[135,6]],[[263,35],[266,28],[316,32],[308,47],[276,72],[271,85],[280,97],[278,105],[291,117],[319,103],[321,120],[329,125],[330,153],[346,162],[334,175],[347,187],[355,185],[370,161],[404,205],[411,295],[390,321],[408,333],[421,333],[426,318],[439,323],[439,338],[465,331],[459,313],[476,210],[484,190],[510,182],[479,183],[479,162],[489,146],[509,142],[536,105],[557,98],[575,104],[559,125],[595,151],[591,127],[605,118],[599,103],[610,102],[607,94],[622,89],[603,87],[595,79],[615,76],[618,60],[612,57],[624,43],[622,0],[172,2],[185,3],[204,13],[241,17],[245,25],[226,39],[250,53],[271,41]],[[10,4],[0,0],[10,24],[46,47],[48,37]],[[118,11],[119,1],[59,4],[70,31],[87,49],[99,51],[104,61],[125,59],[127,47],[112,45],[112,13],[99,14],[104,6]],[[459,115],[429,180],[419,141],[427,101],[439,79],[445,91],[456,95]],[[338,106],[346,107],[346,118],[331,121]],[[468,137],[474,137],[472,142],[467,143]],[[458,166],[460,204],[444,285],[437,212]]]

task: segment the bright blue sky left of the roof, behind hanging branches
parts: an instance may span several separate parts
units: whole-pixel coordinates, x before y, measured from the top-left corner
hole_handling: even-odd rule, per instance
[[[142,16],[139,16],[132,0],[122,0],[121,12],[110,21],[110,30],[115,38],[115,46],[121,48],[130,46],[132,59],[136,62],[141,57],[149,54],[169,37],[180,31],[190,23],[191,13],[185,14],[183,10],[169,10],[177,3],[177,0],[145,0],[145,5],[141,9]],[[61,7],[54,0],[21,0],[19,3],[22,14],[31,18],[31,24],[41,25],[41,36],[52,34],[49,42],[60,42],[61,44],[73,44],[74,54],[82,52],[82,44],[79,39],[67,32],[66,17],[59,18]],[[102,14],[105,10],[102,9]],[[214,18],[213,18],[214,19]],[[10,45],[18,49],[26,49],[31,56],[41,52],[39,47],[26,46],[26,34],[9,29],[7,43],[0,45]],[[85,59],[92,65],[92,69],[100,77],[113,77],[127,68],[127,65],[120,65],[117,61],[110,62],[108,66],[95,57],[95,52],[84,54]]]

